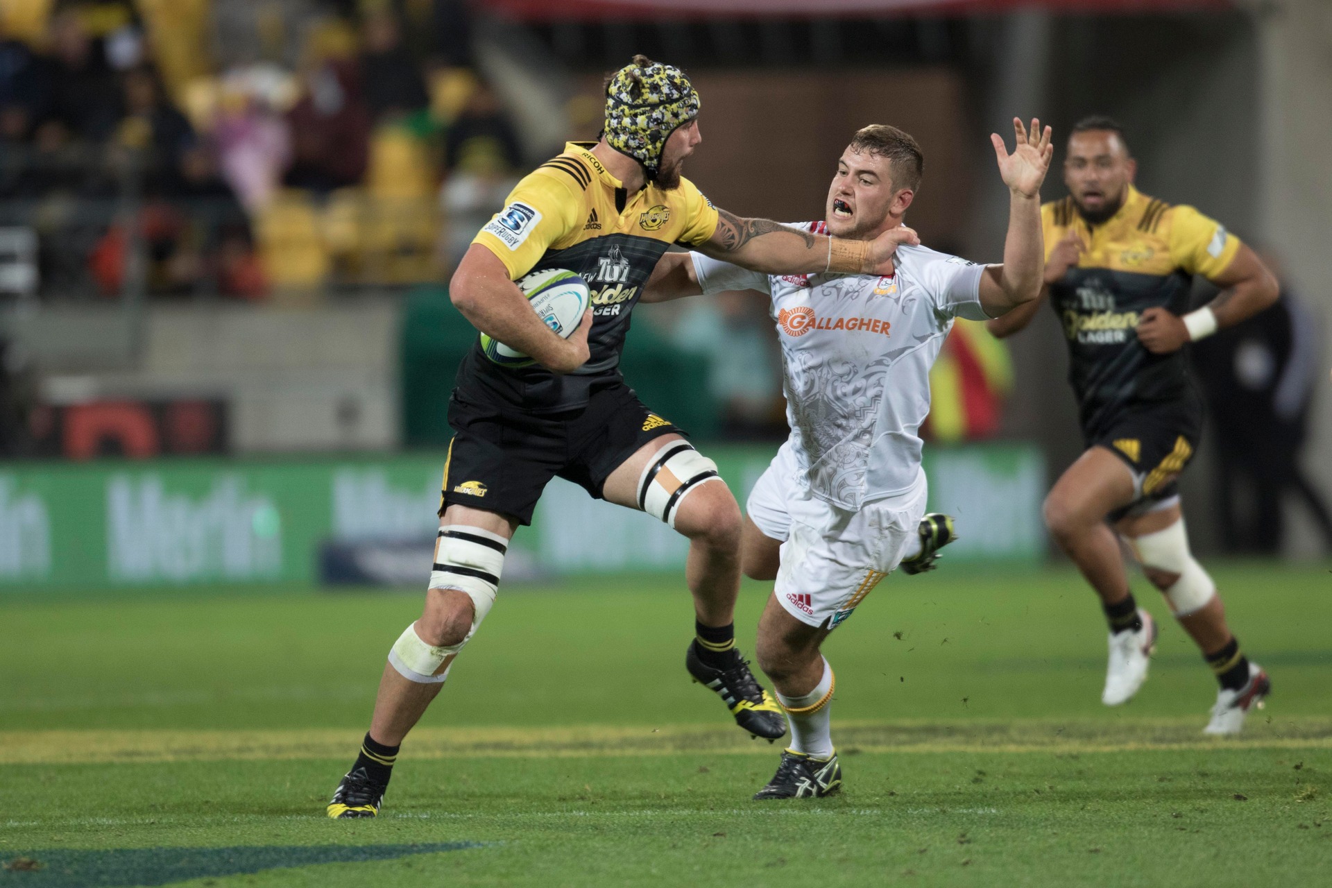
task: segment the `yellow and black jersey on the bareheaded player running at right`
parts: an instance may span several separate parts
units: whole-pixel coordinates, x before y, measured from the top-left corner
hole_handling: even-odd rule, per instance
[[[1050,285],[1050,304],[1068,339],[1068,378],[1087,434],[1124,410],[1196,399],[1183,351],[1152,354],[1135,334],[1142,313],[1188,310],[1192,276],[1219,276],[1240,241],[1192,206],[1172,206],[1130,186],[1124,205],[1091,226],[1071,197],[1040,210],[1046,260],[1070,230],[1083,244],[1078,265]]]

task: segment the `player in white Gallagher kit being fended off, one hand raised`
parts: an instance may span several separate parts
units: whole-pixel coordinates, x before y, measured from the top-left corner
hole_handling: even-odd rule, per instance
[[[1012,153],[991,136],[1010,190],[1002,265],[898,246],[888,276],[749,272],[701,253],[667,254],[645,301],[759,290],[773,297],[791,435],[749,501],[745,571],[777,583],[759,620],[759,666],[791,727],[777,775],[755,799],[835,792],[834,676],[819,647],[898,564],[927,570],[951,539],[926,517],[916,431],[930,411],[930,367],[955,317],[986,321],[1040,293],[1040,184],[1050,128],[1014,120]],[[920,146],[894,126],[856,132],[838,160],[826,221],[810,232],[872,240],[902,225],[924,170]],[[928,518],[923,521],[923,518]]]

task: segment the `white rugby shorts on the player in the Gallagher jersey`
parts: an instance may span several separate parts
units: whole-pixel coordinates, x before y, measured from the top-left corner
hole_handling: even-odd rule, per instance
[[[774,530],[781,526],[769,494],[785,493],[775,502],[787,533],[773,591],[791,616],[829,628],[846,622],[879,580],[896,568],[907,541],[919,531],[928,497],[923,471],[907,493],[858,510],[814,497],[794,477],[785,490],[775,487],[765,491],[770,513],[765,521]],[[753,498],[750,503],[753,507]],[[769,533],[758,519],[754,523]]]

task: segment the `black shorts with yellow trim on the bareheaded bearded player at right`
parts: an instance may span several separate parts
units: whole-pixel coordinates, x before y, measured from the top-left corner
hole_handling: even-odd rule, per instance
[[[1203,433],[1203,410],[1193,399],[1136,405],[1100,423],[1087,434],[1087,446],[1100,446],[1124,461],[1134,473],[1136,498],[1108,517],[1119,521],[1130,514],[1179,495],[1175,479],[1197,453]]]

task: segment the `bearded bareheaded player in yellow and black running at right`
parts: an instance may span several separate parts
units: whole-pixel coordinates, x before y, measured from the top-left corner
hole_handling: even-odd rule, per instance
[[[1269,306],[1277,285],[1221,225],[1135,189],[1136,169],[1120,126],[1088,117],[1068,140],[1068,197],[1042,208],[1042,296],[1068,341],[1087,446],[1046,498],[1046,525],[1110,622],[1102,700],[1118,706],[1134,696],[1156,640],[1151,615],[1128,588],[1123,539],[1220,683],[1205,732],[1236,734],[1271,682],[1240,652],[1216,586],[1188,549],[1175,479],[1197,449],[1203,417],[1183,349]],[[1221,292],[1187,312],[1195,274]],[[1038,305],[990,321],[990,332],[1016,333]]]

